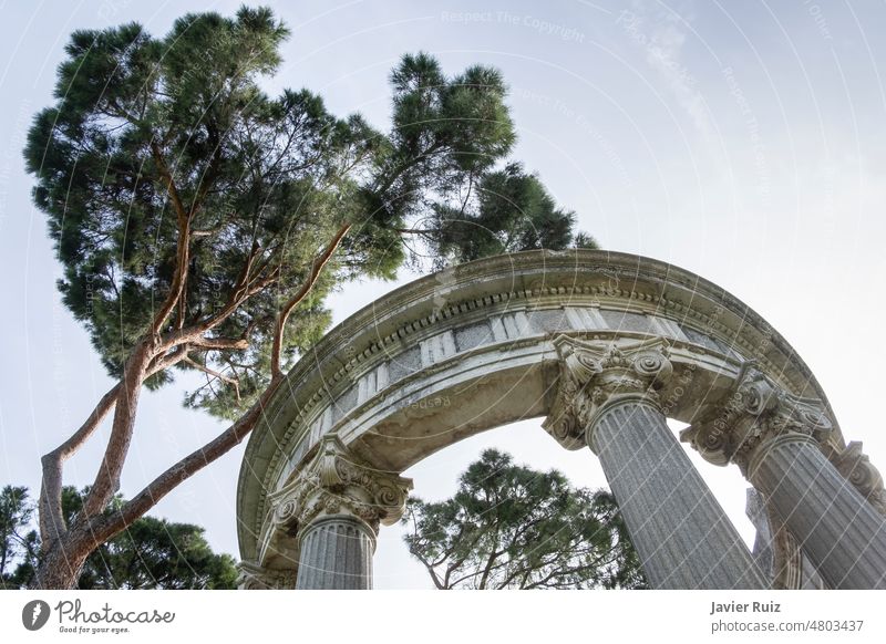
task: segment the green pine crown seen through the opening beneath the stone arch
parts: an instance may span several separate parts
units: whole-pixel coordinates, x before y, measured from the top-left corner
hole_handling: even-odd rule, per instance
[[[411,498],[410,553],[447,589],[641,589],[639,558],[611,494],[574,488],[487,449],[445,501]]]

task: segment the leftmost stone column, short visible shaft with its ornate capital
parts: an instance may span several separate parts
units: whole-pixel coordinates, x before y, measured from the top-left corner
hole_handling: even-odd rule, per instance
[[[275,498],[275,520],[296,534],[297,589],[371,589],[379,524],[403,513],[412,481],[370,467],[326,436],[299,478]]]

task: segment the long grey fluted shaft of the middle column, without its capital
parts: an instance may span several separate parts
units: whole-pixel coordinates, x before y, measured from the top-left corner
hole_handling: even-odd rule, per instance
[[[587,432],[656,589],[766,586],[734,526],[663,414],[642,399],[601,411]]]

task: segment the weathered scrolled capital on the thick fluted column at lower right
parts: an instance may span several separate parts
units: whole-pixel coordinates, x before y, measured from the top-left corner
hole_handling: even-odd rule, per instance
[[[751,458],[770,440],[793,436],[825,444],[832,428],[820,399],[790,394],[745,363],[727,403],[683,429],[680,439],[715,465],[735,463],[746,476]]]

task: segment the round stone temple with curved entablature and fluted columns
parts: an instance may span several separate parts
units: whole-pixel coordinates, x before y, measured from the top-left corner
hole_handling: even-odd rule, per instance
[[[330,331],[249,439],[240,586],[372,588],[401,472],[535,417],[600,459],[652,588],[886,588],[883,478],[791,345],[699,276],[597,250],[465,263]],[[667,418],[750,484],[753,551]]]

